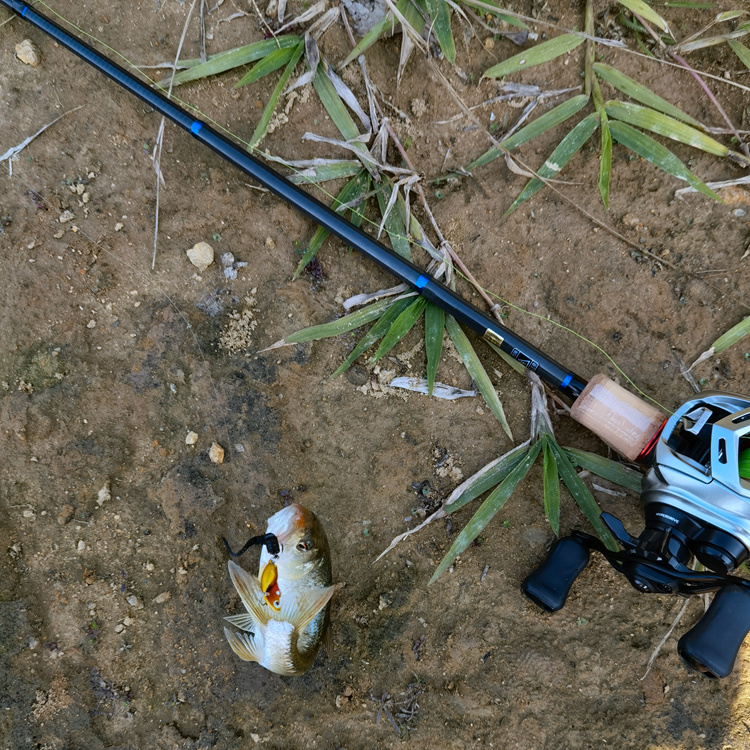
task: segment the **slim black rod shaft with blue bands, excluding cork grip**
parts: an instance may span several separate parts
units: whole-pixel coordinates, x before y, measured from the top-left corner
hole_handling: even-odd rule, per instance
[[[93,47],[69,34],[54,21],[37,13],[29,8],[26,3],[19,2],[19,0],[0,0],[0,5],[5,5],[18,13],[24,20],[49,34],[58,43],[74,52],[98,71],[119,83],[126,91],[146,102],[150,107],[184,130],[192,133],[196,140],[204,143],[230,164],[297,208],[316,224],[325,227],[344,243],[356,248],[370,260],[419,291],[425,299],[442,307],[446,312],[453,315],[459,323],[473,328],[481,336],[500,346],[504,352],[536,372],[552,387],[571,398],[577,398],[584,389],[585,381],[582,378],[547,357],[535,346],[520,336],[516,336],[510,329],[501,325],[489,315],[485,315],[444,284],[436,279],[428,279],[418,266],[410,263],[398,253],[355,227],[317,198],[309,195],[251,154],[241,150],[209,125],[196,120],[195,117],[167,99],[162,93],[142,83],[124,68],[105,58]]]

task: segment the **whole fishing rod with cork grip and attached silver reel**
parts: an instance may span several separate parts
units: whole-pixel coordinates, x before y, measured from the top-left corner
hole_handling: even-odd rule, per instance
[[[647,468],[641,494],[646,528],[633,537],[617,518],[602,514],[621,551],[613,552],[582,532],[564,537],[524,581],[524,593],[547,611],[559,610],[592,550],[638,591],[716,591],[706,614],[680,639],[678,652],[707,676],[725,677],[732,671],[750,631],[750,581],[729,575],[750,557],[750,398],[707,391],[665,419],[605,375],[586,383],[54,21],[20,0],[0,4],[574,399],[571,416],[576,421]],[[692,570],[688,564],[694,559],[711,572]]]

